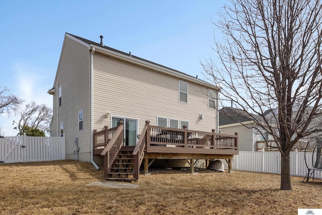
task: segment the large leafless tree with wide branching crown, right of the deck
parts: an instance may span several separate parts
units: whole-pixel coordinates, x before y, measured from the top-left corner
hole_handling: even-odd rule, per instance
[[[232,0],[214,25],[223,40],[206,77],[221,97],[268,132],[281,153],[281,189],[292,189],[290,151],[322,131],[322,5],[319,0]],[[265,117],[266,110],[272,110]],[[264,114],[265,113],[265,114]],[[257,115],[257,116],[256,116]],[[314,125],[314,126],[312,126]]]

